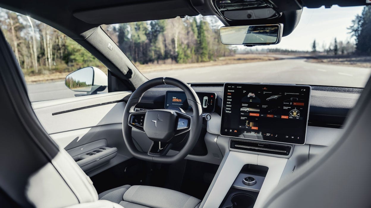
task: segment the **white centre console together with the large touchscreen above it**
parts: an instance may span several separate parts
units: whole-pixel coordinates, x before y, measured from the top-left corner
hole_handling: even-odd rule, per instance
[[[310,95],[308,85],[224,84],[217,140],[228,150],[201,207],[262,207],[283,175],[308,160]]]

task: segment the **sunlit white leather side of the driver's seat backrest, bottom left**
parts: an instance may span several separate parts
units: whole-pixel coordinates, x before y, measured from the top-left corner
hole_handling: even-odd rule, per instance
[[[92,181],[64,149],[29,178],[26,196],[38,208],[98,201]]]

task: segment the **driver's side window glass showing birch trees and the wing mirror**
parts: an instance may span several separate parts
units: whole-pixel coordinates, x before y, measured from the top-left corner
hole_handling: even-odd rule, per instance
[[[108,92],[106,82],[92,86],[93,73],[108,80],[104,64],[55,28],[3,8],[0,28],[22,69],[31,102]]]

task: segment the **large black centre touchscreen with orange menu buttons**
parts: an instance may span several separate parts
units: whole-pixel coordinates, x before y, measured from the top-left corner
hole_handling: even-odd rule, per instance
[[[220,135],[305,144],[308,85],[224,84]]]

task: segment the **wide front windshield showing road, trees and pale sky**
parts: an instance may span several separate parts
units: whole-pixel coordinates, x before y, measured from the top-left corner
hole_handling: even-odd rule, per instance
[[[255,47],[223,45],[223,24],[213,16],[102,27],[149,79],[364,87],[371,67],[370,13],[371,6],[304,8],[296,29],[279,44]]]

